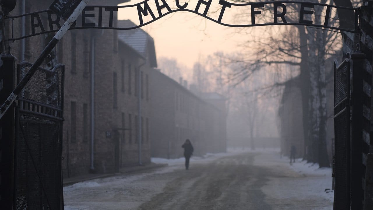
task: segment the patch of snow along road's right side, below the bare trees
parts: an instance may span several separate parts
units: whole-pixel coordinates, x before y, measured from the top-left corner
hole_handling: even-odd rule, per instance
[[[314,199],[314,203],[302,204],[299,202],[300,206],[293,206],[293,209],[333,209],[334,192],[330,190],[332,188],[331,168],[319,168],[319,164],[307,163],[301,158],[296,159],[295,163],[290,165],[288,157],[280,157],[279,149],[256,149],[250,152],[259,153],[254,160],[256,166],[270,167],[274,170],[274,174],[276,174],[276,170],[288,169],[285,172],[288,177],[270,179],[267,185],[262,188],[268,199],[271,200],[268,201],[269,203],[275,202],[278,206],[287,202],[289,205],[297,205],[295,201],[301,202],[311,198],[311,200]],[[324,206],[317,206],[320,201],[324,203]]]

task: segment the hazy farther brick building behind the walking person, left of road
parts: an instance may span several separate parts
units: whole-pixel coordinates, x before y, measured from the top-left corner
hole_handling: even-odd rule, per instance
[[[191,140],[194,155],[225,152],[225,100],[207,97],[218,108],[160,71],[150,75],[152,157],[182,157],[185,139]]]

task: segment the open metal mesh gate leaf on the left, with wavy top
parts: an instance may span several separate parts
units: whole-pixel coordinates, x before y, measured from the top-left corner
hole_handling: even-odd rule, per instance
[[[31,63],[18,64],[19,81]],[[62,201],[64,65],[39,68],[23,88],[16,109],[15,210],[56,210]]]

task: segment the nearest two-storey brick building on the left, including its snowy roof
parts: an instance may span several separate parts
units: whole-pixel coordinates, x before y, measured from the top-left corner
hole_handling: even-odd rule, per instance
[[[90,4],[116,5],[125,1],[91,0]],[[48,9],[49,4],[47,0],[25,1],[25,12]],[[19,3],[10,15],[21,14],[20,11]],[[103,23],[109,22],[105,13],[109,11],[103,11]],[[47,17],[40,19],[47,27]],[[113,19],[114,26],[121,23],[116,13]],[[97,24],[93,19],[86,20]],[[30,30],[28,21],[26,31]],[[7,25],[9,36],[10,21]],[[15,20],[13,34],[20,36],[21,27],[19,20]],[[156,57],[153,39],[140,29],[131,33],[134,32],[143,34],[142,39],[131,40],[129,34],[115,30],[69,30],[56,46],[57,62],[65,64],[64,177],[90,171],[114,172],[120,167],[150,163],[148,71],[156,67]],[[46,37],[25,38],[24,57],[21,40],[9,43],[17,62],[34,62],[47,44]],[[140,49],[136,41],[146,44]]]

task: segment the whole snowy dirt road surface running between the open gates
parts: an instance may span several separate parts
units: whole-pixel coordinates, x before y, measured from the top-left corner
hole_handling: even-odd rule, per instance
[[[228,153],[64,188],[65,210],[331,210],[329,169],[277,152]]]

